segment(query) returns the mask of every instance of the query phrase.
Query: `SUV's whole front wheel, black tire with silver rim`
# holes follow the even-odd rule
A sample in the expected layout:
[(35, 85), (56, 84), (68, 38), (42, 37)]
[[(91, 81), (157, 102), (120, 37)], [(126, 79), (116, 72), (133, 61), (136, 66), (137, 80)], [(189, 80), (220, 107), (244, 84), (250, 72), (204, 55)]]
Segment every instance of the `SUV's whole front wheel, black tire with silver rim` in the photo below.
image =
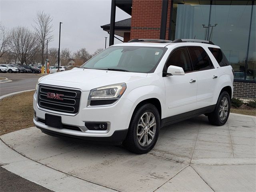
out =
[(124, 146), (133, 153), (144, 154), (156, 144), (160, 130), (160, 115), (153, 104), (140, 106), (130, 121)]

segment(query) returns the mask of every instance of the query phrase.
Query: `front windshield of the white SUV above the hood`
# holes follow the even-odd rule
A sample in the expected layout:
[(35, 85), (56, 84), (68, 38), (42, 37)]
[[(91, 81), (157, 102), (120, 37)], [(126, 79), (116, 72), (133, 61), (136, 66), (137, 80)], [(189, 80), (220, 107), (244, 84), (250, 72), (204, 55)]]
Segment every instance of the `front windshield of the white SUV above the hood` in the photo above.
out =
[(152, 73), (167, 48), (113, 46), (109, 47), (81, 66), (81, 68)]

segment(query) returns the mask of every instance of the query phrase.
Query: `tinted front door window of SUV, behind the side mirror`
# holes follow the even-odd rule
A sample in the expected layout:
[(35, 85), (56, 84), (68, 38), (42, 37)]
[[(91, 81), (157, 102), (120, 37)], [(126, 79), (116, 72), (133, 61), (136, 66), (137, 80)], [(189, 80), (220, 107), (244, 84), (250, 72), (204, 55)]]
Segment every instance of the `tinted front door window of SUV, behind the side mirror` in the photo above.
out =
[(185, 73), (191, 71), (186, 48), (177, 48), (176, 50), (171, 52), (170, 57), (166, 62), (166, 70), (170, 65), (182, 67)]

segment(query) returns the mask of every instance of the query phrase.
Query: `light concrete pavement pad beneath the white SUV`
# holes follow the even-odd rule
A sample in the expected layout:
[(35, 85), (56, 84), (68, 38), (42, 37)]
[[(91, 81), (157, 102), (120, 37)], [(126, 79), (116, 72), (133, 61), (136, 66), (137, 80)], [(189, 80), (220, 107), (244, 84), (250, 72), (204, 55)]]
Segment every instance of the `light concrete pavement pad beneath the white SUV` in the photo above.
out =
[[(53, 191), (256, 191), (256, 118), (202, 115), (160, 130), (148, 154), (42, 134), (2, 135), (2, 167)], [(67, 186), (66, 186), (67, 185)]]

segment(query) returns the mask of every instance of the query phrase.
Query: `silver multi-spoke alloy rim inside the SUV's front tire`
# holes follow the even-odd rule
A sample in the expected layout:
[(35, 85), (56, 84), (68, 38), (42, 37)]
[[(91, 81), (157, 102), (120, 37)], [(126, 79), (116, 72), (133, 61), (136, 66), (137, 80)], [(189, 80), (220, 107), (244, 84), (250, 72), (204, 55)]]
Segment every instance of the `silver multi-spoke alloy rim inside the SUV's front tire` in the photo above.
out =
[(137, 139), (141, 146), (148, 146), (156, 134), (156, 118), (152, 112), (144, 113), (137, 126)]

